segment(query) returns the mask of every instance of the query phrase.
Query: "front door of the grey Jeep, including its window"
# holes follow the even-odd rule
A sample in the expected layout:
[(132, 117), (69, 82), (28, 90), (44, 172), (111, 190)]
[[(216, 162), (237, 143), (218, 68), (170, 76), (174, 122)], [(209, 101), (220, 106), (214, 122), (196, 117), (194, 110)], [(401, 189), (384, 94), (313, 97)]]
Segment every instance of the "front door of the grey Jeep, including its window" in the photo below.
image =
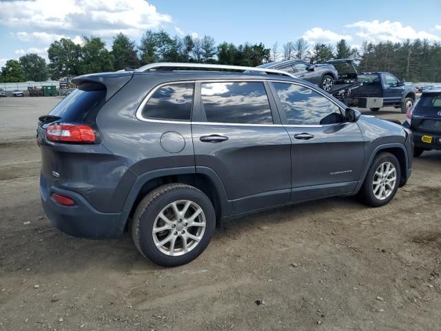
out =
[(360, 179), (364, 139), (357, 123), (319, 90), (274, 81), (283, 125), (291, 137), (291, 201), (353, 192)]

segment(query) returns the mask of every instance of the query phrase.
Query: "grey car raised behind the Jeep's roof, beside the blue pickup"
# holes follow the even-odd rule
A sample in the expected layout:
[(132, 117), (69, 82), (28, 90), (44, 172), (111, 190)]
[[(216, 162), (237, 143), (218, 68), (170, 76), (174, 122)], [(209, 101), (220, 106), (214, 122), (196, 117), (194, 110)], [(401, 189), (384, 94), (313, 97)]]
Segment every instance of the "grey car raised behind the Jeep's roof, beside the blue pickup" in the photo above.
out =
[(289, 72), (294, 76), (305, 79), (323, 90), (330, 92), (334, 81), (338, 79), (338, 72), (331, 64), (311, 64), (302, 60), (285, 60), (265, 63), (257, 68), (276, 69)]

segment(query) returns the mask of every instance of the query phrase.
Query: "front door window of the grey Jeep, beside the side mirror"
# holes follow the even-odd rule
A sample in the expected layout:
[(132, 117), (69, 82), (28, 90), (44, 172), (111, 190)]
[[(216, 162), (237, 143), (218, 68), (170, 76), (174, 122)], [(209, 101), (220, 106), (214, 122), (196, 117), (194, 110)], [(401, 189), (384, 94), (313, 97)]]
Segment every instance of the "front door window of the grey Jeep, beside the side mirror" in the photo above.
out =
[(273, 83), (287, 116), (294, 125), (342, 123), (340, 108), (314, 90), (291, 83)]

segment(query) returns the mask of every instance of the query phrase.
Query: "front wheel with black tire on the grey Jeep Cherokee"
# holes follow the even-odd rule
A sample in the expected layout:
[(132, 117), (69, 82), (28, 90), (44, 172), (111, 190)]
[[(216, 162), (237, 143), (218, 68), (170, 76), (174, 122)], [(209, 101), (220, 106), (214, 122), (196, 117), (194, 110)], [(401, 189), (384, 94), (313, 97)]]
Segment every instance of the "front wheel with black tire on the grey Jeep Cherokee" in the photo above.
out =
[[(391, 181), (389, 181), (389, 185), (386, 183), (388, 182), (388, 179), (383, 180), (381, 177), (378, 178), (380, 166), (383, 166), (382, 170), (385, 172), (385, 170), (387, 170), (387, 163), (389, 163), (389, 165), (393, 165), (395, 168), (396, 179), (393, 185), (391, 184)], [(392, 169), (389, 168), (389, 171), (391, 170)], [(387, 178), (389, 178), (389, 180), (393, 179), (393, 173)], [(375, 186), (373, 183), (374, 179), (379, 182)], [(358, 196), (360, 197), (362, 203), (370, 205), (371, 207), (381, 207), (382, 205), (386, 205), (395, 196), (398, 186), (400, 185), (400, 179), (401, 169), (398, 159), (391, 153), (382, 152), (373, 159), (372, 164), (366, 174), (365, 182), (363, 183), (360, 192), (358, 192)], [(393, 186), (392, 188), (391, 185)], [(378, 186), (380, 186), (380, 188), (378, 188)], [(382, 194), (382, 188), (384, 188), (384, 194)], [(377, 190), (376, 192), (375, 189)], [(380, 195), (384, 195), (384, 197), (378, 197)]]

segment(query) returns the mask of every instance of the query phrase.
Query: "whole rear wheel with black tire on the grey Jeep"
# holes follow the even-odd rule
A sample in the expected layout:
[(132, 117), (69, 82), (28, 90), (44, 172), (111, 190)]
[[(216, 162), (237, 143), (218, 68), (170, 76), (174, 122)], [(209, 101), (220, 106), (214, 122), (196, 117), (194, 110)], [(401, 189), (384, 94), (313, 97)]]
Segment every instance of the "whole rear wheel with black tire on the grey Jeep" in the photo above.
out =
[[(181, 214), (185, 207), (187, 212)], [(191, 216), (199, 209), (197, 221), (189, 225)], [(160, 217), (161, 213), (165, 219)], [(145, 258), (164, 267), (176, 267), (193, 261), (207, 248), (215, 227), (216, 213), (208, 197), (193, 186), (172, 183), (152, 190), (141, 200), (132, 220), (132, 238)], [(154, 233), (154, 228), (165, 230)], [(192, 238), (187, 237), (190, 235)]]

